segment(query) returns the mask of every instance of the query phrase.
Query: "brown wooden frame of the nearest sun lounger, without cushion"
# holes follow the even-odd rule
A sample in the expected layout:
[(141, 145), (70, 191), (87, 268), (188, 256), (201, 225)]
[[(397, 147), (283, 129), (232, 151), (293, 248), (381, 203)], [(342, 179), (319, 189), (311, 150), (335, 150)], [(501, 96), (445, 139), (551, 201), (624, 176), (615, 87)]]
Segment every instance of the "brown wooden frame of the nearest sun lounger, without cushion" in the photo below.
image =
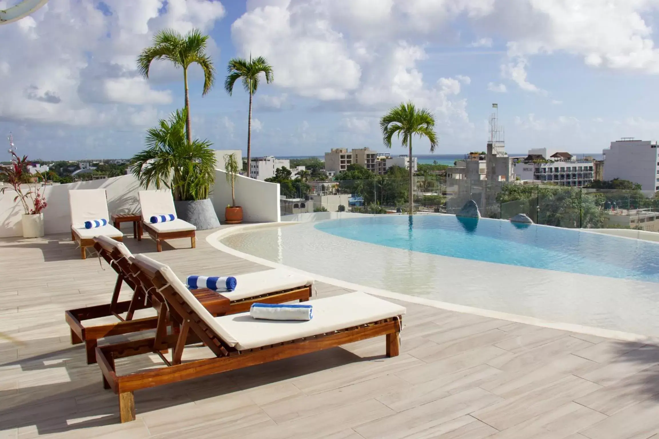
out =
[[(269, 361), (334, 348), (382, 335), (386, 336), (387, 357), (395, 357), (399, 353), (401, 317), (405, 309), (402, 309), (403, 311), (399, 315), (359, 324), (358, 326), (341, 328), (268, 346), (239, 350), (232, 347), (206, 324), (204, 318), (200, 317), (188, 304), (185, 297), (179, 294), (177, 288), (181, 287), (175, 288), (169, 284), (163, 272), (156, 265), (145, 263), (143, 259), (132, 262), (134, 267), (139, 270), (138, 277), (140, 281), (144, 282), (144, 287), (154, 286), (158, 290), (154, 293), (154, 296), (158, 296), (162, 304), (159, 311), (159, 317), (161, 318), (154, 338), (98, 346), (96, 348), (96, 359), (103, 375), (103, 388), (111, 388), (119, 396), (119, 415), (122, 423), (135, 419), (133, 393), (135, 390), (268, 363)], [(319, 299), (316, 303), (323, 300), (327, 299)], [(171, 319), (178, 325), (177, 330), (171, 334), (167, 333), (165, 318), (162, 317), (166, 309), (169, 310)], [(185, 346), (199, 341), (208, 346), (215, 357), (183, 363), (181, 357)], [(172, 349), (171, 362), (161, 355), (161, 352), (170, 348)], [(148, 369), (123, 376), (117, 374), (115, 360), (154, 352), (161, 355), (166, 367)]]

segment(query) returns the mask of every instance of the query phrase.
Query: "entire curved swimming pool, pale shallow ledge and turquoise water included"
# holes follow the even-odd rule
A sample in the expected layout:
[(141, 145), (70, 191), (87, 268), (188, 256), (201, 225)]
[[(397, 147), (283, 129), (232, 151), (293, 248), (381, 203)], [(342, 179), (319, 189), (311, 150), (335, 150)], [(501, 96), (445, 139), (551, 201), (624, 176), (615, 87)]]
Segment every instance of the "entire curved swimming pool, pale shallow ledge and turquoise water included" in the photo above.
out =
[(407, 296), (659, 336), (659, 244), (452, 215), (244, 230), (221, 244)]

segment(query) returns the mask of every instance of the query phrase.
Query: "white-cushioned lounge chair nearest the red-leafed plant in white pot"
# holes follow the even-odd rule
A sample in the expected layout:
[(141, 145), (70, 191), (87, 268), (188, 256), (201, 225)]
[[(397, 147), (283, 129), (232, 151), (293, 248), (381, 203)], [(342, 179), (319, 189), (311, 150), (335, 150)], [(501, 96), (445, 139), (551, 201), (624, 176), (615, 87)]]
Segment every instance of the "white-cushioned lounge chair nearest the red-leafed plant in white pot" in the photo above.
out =
[[(94, 246), (94, 237), (109, 236), (115, 240), (123, 240), (123, 233), (110, 225), (110, 215), (107, 211), (107, 194), (105, 189), (79, 189), (69, 191), (69, 206), (71, 207), (71, 240), (80, 245), (82, 259), (87, 259), (86, 248)], [(85, 221), (107, 220), (105, 226), (85, 228)]]

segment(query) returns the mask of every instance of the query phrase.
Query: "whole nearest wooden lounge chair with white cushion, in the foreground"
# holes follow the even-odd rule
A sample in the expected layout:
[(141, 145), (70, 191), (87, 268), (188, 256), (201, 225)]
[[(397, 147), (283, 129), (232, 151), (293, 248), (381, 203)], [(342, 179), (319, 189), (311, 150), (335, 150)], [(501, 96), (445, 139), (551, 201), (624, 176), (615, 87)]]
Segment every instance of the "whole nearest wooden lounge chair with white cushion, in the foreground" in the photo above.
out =
[[(154, 296), (169, 309), (179, 330), (168, 334), (158, 326), (156, 336), (119, 344), (98, 346), (96, 359), (103, 374), (103, 387), (119, 396), (121, 422), (135, 419), (135, 390), (160, 386), (199, 376), (241, 369), (357, 342), (386, 336), (386, 353), (399, 353), (401, 317), (405, 308), (362, 292), (316, 299), (310, 321), (257, 321), (249, 313), (214, 317), (197, 301), (167, 265), (137, 255), (133, 261), (140, 280), (149, 278)], [(165, 306), (161, 308), (165, 309)], [(163, 319), (164, 320), (164, 319)], [(200, 340), (212, 358), (181, 361), (185, 346)], [(119, 375), (115, 360), (142, 353), (173, 349), (166, 367)]]

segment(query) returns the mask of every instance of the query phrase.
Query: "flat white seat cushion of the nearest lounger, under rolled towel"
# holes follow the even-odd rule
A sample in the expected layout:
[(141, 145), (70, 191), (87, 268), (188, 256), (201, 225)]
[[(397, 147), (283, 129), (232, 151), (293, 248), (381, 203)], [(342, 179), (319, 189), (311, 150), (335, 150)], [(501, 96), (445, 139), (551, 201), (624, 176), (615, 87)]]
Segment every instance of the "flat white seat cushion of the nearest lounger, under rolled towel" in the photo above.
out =
[(362, 292), (316, 299), (308, 304), (314, 307), (314, 317), (310, 321), (256, 320), (250, 317), (249, 313), (215, 317), (215, 321), (223, 332), (229, 334), (231, 340), (237, 341), (233, 346), (243, 350), (405, 314), (405, 307)]

